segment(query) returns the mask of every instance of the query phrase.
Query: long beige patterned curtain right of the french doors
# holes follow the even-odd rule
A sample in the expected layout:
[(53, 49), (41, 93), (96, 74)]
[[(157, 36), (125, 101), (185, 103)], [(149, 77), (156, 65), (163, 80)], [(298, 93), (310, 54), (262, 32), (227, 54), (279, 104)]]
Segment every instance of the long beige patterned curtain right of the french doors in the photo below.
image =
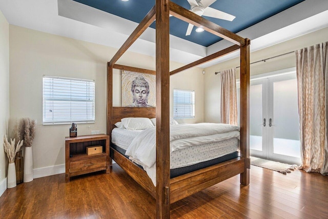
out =
[(296, 50), (302, 163), (306, 172), (327, 173), (327, 43)]

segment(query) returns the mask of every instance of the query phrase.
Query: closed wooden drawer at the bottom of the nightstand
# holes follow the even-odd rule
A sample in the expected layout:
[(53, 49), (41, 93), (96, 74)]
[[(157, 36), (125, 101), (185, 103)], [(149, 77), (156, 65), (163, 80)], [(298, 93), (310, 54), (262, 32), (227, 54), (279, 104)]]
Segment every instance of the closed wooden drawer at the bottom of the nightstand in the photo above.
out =
[(70, 162), (70, 173), (101, 167), (106, 169), (106, 156)]

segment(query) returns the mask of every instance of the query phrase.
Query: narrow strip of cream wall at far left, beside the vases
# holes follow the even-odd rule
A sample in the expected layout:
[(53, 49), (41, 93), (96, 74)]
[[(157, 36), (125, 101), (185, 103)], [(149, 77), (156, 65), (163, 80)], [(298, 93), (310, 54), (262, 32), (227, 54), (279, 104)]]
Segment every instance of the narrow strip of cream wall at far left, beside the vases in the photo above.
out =
[(7, 188), (4, 135), (9, 121), (9, 24), (0, 11), (0, 196)]

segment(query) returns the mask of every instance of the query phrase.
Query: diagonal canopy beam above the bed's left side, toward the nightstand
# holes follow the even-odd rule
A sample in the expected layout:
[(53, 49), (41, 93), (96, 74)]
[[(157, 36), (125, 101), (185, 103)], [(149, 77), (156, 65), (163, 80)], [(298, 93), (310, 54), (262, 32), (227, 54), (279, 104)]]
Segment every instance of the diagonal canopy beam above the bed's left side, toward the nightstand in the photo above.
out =
[(139, 36), (154, 22), (155, 20), (155, 6), (148, 12), (146, 17), (142, 19), (137, 28), (132, 32), (127, 41), (119, 48), (114, 57), (109, 62), (109, 66), (117, 62), (117, 60), (129, 49), (129, 47), (139, 38)]

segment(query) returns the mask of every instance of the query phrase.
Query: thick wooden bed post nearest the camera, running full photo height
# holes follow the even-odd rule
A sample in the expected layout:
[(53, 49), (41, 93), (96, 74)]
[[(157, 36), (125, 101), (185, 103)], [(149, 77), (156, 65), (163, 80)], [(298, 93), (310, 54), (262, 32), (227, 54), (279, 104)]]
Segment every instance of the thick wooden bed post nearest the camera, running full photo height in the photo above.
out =
[(170, 9), (156, 0), (156, 217), (170, 218)]

